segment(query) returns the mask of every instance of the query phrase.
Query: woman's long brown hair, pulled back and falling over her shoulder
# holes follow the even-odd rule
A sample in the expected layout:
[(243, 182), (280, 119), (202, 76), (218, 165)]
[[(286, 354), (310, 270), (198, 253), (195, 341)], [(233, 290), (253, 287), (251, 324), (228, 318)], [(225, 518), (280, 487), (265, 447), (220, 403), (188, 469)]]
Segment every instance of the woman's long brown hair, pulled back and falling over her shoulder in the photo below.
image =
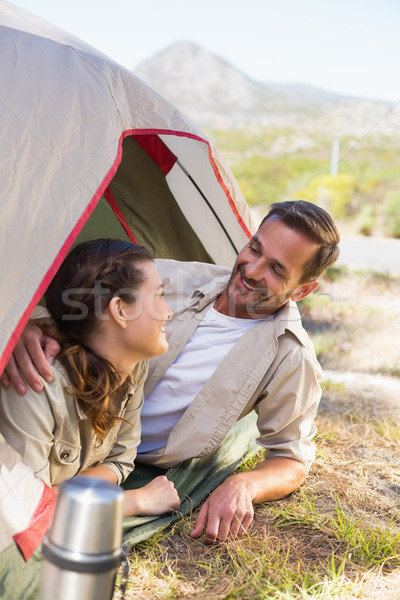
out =
[(54, 324), (43, 329), (59, 342), (58, 359), (71, 382), (68, 391), (91, 420), (100, 442), (119, 420), (129, 382), (121, 387), (115, 368), (88, 347), (88, 339), (114, 296), (135, 302), (144, 280), (140, 263), (151, 260), (146, 248), (130, 242), (84, 242), (68, 254), (45, 294)]

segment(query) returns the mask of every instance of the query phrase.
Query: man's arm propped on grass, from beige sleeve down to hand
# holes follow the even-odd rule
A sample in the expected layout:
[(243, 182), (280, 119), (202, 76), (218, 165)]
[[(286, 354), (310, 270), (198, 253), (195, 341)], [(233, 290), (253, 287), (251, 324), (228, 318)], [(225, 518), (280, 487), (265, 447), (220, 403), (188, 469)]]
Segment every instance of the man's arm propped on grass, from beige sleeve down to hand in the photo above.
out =
[(283, 498), (303, 483), (315, 453), (311, 440), (321, 388), (313, 352), (293, 348), (285, 350), (256, 406), (257, 441), (269, 456), (214, 490), (200, 510), (193, 537), (204, 529), (210, 543), (243, 535), (253, 520), (254, 504)]

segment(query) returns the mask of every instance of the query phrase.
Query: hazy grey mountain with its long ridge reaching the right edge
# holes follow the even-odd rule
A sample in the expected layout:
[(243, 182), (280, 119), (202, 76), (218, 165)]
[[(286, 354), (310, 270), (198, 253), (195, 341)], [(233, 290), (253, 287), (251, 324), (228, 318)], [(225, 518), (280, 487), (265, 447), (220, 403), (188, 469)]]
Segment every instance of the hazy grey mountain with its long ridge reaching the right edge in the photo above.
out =
[(251, 79), (197, 44), (179, 41), (140, 63), (134, 73), (202, 128), (251, 125), (300, 127), (305, 132), (388, 135), (400, 128), (400, 109), (305, 84)]

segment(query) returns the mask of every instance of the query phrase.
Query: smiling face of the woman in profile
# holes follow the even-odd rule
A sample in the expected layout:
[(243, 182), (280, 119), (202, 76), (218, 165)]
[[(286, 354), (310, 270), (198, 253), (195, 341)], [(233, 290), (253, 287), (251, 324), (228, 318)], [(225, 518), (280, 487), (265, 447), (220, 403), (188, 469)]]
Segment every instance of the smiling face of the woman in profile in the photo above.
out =
[(172, 310), (163, 296), (161, 277), (151, 261), (139, 265), (145, 279), (136, 290), (136, 302), (125, 304), (128, 327), (125, 342), (136, 360), (151, 358), (168, 350), (165, 322)]

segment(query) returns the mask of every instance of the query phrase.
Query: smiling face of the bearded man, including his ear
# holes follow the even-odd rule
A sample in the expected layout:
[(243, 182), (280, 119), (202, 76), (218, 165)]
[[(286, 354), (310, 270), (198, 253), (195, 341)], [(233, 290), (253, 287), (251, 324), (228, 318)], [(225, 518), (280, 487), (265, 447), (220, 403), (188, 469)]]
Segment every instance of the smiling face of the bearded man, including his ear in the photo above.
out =
[(238, 255), (226, 291), (216, 307), (251, 319), (275, 313), (289, 298), (300, 300), (318, 282), (301, 284), (304, 266), (319, 245), (282, 221), (268, 219)]

